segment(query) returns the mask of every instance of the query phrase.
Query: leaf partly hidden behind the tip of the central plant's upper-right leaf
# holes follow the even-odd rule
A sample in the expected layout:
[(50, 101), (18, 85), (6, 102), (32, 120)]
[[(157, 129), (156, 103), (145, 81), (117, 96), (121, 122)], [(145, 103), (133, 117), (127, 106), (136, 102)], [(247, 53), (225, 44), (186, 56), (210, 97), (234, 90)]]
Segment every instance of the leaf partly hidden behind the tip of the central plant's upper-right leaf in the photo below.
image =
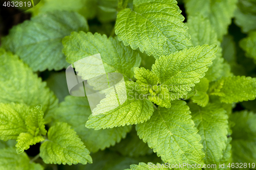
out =
[(220, 47), (220, 41), (218, 41), (217, 33), (214, 28), (211, 27), (210, 20), (202, 15), (191, 16), (187, 21), (187, 32), (191, 36), (191, 42), (194, 46), (209, 44), (218, 45), (218, 51), (216, 53), (216, 59), (212, 61), (212, 65), (209, 66), (208, 71), (205, 74), (205, 78), (209, 81), (216, 81), (221, 77), (230, 76), (230, 68), (224, 59), (221, 57), (222, 48)]

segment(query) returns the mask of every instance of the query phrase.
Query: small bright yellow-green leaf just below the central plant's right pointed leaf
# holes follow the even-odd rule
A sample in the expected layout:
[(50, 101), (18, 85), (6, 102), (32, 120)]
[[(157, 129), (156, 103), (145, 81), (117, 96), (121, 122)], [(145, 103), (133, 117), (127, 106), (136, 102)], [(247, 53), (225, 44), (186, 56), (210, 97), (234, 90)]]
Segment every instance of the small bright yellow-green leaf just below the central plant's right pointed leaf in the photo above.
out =
[(205, 78), (200, 79), (200, 82), (194, 88), (195, 95), (191, 97), (191, 100), (199, 106), (205, 107), (209, 102), (208, 88), (209, 81)]

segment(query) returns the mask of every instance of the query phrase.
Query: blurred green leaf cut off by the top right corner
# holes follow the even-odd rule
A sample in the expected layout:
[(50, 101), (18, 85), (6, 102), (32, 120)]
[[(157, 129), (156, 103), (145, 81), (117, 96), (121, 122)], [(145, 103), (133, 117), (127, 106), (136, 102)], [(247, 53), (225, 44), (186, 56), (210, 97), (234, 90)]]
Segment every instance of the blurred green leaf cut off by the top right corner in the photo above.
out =
[(234, 12), (234, 22), (247, 33), (256, 30), (256, 3), (254, 0), (240, 0)]

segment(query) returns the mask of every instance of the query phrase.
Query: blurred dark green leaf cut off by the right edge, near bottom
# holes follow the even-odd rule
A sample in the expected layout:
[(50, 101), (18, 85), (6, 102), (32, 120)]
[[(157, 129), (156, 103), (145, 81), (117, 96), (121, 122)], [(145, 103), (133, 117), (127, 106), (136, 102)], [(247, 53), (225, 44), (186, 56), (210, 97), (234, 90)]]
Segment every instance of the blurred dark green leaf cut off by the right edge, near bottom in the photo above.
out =
[[(256, 161), (256, 115), (246, 110), (231, 114), (233, 162), (255, 163)], [(243, 169), (249, 169), (243, 168)], [(255, 168), (253, 168), (255, 169)]]

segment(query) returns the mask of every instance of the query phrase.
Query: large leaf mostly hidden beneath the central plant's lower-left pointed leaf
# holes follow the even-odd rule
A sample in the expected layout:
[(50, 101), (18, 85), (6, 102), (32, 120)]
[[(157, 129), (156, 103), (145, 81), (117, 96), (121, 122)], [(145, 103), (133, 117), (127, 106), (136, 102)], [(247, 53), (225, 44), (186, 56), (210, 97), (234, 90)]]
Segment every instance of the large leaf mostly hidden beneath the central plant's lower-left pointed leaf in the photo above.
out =
[(95, 131), (85, 127), (91, 109), (87, 98), (78, 98), (75, 96), (67, 96), (65, 102), (55, 111), (55, 122), (66, 122), (77, 132), (82, 142), (91, 152), (104, 150), (116, 142), (120, 142), (121, 138), (131, 130), (131, 126), (117, 127), (112, 129), (101, 129)]

